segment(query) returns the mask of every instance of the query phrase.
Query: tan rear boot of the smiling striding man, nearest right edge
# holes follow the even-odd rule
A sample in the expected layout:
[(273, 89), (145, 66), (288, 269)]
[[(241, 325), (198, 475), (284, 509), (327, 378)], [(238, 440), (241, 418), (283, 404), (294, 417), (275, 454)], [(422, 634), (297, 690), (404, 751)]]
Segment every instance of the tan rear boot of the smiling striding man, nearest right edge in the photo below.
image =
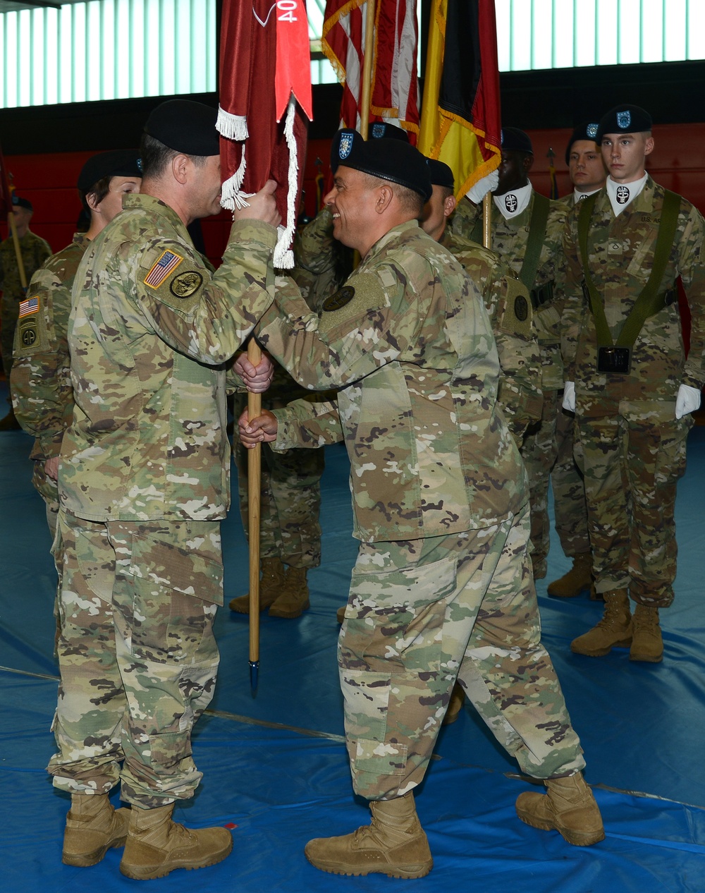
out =
[(517, 797), (517, 815), (522, 822), (543, 831), (557, 830), (575, 847), (589, 847), (604, 840), (600, 809), (582, 772), (544, 783), (545, 795), (525, 791)]

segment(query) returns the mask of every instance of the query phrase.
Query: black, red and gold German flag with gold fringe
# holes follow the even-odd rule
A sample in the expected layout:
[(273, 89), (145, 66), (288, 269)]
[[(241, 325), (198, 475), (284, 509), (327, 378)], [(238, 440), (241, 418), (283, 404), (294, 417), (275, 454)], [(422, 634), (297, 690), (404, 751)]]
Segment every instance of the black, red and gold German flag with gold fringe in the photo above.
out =
[(449, 165), (456, 196), (499, 167), (501, 121), (494, 0), (433, 0), (419, 149)]

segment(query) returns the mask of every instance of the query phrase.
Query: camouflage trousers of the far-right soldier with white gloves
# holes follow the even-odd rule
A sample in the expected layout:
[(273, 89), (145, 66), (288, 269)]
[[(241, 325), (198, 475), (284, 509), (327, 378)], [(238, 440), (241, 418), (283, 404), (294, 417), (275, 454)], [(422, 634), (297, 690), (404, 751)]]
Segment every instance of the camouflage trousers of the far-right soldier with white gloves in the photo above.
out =
[(613, 409), (576, 416), (595, 586), (628, 588), (635, 602), (668, 607), (676, 579), (676, 484), (693, 416), (676, 420), (674, 404), (661, 401), (622, 401)]

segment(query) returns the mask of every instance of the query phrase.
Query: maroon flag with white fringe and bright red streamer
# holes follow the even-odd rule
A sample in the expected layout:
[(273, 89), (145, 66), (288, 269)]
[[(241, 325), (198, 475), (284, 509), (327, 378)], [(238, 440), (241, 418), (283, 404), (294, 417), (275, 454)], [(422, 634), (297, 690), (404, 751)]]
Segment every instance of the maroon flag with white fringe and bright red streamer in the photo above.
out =
[[(225, 0), (220, 30), (223, 207), (240, 206), (267, 179), (278, 183), (274, 262), (291, 267), (307, 119), (311, 53), (303, 0)], [(282, 120), (283, 119), (283, 120)]]

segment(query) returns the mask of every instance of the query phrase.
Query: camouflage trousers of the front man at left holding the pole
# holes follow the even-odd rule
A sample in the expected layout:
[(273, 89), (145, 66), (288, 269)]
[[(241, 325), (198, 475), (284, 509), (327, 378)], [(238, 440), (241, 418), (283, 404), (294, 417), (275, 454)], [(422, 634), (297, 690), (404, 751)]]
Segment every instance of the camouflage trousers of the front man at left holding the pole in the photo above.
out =
[[(222, 604), (218, 522), (59, 513), (61, 682), (54, 786), (142, 806), (193, 797), (191, 730), (210, 703)], [(120, 768), (120, 764), (122, 764)]]

